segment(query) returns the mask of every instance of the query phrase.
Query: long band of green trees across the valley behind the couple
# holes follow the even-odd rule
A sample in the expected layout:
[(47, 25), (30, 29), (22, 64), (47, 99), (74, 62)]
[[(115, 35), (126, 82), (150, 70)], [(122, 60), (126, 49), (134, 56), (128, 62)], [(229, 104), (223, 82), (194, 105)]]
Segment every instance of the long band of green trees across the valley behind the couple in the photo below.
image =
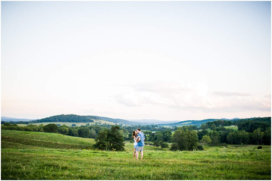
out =
[[(240, 120), (239, 120), (240, 121)], [(157, 125), (147, 125), (147, 126), (126, 126), (120, 124), (119, 126), (115, 124), (111, 126), (109, 124), (103, 123), (100, 125), (89, 125), (85, 126), (67, 126), (58, 124), (47, 124), (43, 125), (28, 125), (28, 126), (18, 126), (16, 123), (10, 124), (8, 122), (1, 126), (2, 130), (20, 130), (20, 131), (35, 131), (35, 132), (48, 132), (48, 133), (59, 133), (68, 136), (76, 136), (82, 138), (93, 138), (96, 140), (94, 145), (97, 149), (105, 150), (119, 150), (121, 148), (113, 146), (116, 145), (115, 142), (111, 141), (113, 135), (111, 130), (115, 133), (115, 136), (121, 135), (118, 140), (131, 140), (132, 132), (137, 128), (143, 130), (145, 134), (146, 141), (153, 142), (155, 146), (161, 148), (168, 148), (167, 143), (172, 143), (170, 150), (202, 150), (202, 146), (199, 142), (203, 142), (209, 146), (226, 145), (226, 144), (253, 144), (253, 145), (271, 145), (271, 117), (270, 124), (269, 118), (260, 119), (254, 118), (249, 120), (244, 120), (244, 122), (237, 122), (238, 130), (226, 129), (224, 126), (229, 126), (232, 124), (229, 120), (216, 120), (212, 122), (207, 122), (205, 125), (197, 127), (196, 125), (189, 126), (174, 126), (172, 128), (157, 126)], [(200, 130), (199, 128), (208, 128)], [(210, 127), (209, 127), (210, 126)], [(199, 131), (196, 131), (199, 130)], [(172, 133), (173, 132), (173, 133)], [(108, 142), (108, 144), (106, 144)], [(99, 144), (98, 144), (99, 143)], [(101, 144), (100, 144), (101, 143)], [(120, 144), (119, 144), (120, 145)]]

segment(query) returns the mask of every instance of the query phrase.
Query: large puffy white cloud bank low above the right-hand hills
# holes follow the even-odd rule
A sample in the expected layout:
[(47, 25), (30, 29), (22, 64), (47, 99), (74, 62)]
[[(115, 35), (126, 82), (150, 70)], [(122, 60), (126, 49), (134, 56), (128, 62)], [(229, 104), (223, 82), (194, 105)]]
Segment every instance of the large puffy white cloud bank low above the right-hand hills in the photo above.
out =
[[(261, 100), (241, 92), (209, 94), (206, 83), (182, 85), (177, 83), (142, 83), (130, 85), (134, 89), (115, 95), (118, 103), (126, 106), (153, 105), (176, 109), (206, 111), (270, 111), (271, 100)], [(249, 97), (250, 96), (250, 97)]]

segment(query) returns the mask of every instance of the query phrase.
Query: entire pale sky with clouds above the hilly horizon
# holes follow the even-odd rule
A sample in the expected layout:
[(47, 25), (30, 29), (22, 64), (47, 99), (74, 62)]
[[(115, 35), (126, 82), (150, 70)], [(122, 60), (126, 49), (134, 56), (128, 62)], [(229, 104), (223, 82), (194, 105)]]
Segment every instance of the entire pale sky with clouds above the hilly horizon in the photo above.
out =
[(1, 2), (1, 116), (271, 116), (271, 2)]

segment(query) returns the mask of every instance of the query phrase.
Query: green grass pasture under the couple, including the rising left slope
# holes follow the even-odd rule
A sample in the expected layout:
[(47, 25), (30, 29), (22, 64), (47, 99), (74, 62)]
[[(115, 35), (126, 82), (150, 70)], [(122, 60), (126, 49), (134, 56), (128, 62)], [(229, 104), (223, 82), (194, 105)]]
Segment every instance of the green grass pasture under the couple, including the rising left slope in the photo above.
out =
[[(1, 130), (2, 180), (271, 180), (271, 146), (172, 152), (146, 145), (143, 160), (133, 160), (133, 143), (126, 143), (123, 152), (97, 151), (69, 148), (80, 141), (93, 144), (93, 139), (28, 133)], [(63, 148), (52, 147), (47, 139)]]

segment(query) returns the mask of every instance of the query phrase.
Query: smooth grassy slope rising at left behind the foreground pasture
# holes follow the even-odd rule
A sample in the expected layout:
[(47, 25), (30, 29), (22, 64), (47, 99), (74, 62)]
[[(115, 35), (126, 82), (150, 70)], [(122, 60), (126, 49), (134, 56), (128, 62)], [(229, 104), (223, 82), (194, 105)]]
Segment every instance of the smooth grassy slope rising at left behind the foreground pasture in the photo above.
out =
[(94, 143), (94, 139), (64, 136), (57, 133), (1, 130), (1, 149), (18, 146), (20, 148), (88, 149)]

